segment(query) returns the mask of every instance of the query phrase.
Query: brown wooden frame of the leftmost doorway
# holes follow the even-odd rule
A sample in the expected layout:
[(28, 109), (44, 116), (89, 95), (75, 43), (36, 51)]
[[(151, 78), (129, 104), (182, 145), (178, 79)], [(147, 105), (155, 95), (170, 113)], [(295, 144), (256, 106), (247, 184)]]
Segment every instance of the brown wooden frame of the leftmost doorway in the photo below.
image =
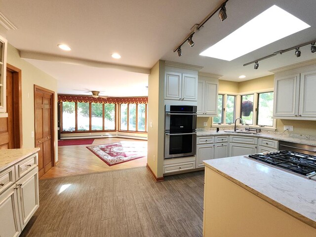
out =
[(22, 148), (22, 71), (8, 63), (6, 64), (6, 70), (13, 73), (13, 146), (14, 148)]

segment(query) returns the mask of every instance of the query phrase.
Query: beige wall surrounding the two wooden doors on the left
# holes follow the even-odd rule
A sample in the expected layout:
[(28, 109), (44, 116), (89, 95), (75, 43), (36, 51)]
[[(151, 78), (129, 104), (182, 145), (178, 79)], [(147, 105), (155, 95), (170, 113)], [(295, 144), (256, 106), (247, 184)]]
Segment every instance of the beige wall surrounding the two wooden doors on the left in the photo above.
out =
[(55, 160), (57, 150), (57, 80), (20, 58), (18, 49), (8, 44), (7, 63), (22, 70), (22, 131), (23, 148), (33, 148), (35, 138), (31, 137), (34, 128), (34, 84), (55, 91)]

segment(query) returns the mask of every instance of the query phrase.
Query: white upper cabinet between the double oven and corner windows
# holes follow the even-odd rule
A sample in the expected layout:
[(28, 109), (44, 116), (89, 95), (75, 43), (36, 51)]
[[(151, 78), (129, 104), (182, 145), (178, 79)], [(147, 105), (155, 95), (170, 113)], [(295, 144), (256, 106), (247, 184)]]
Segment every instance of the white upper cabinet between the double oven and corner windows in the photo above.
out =
[(197, 85), (197, 115), (217, 116), (219, 75), (199, 73)]

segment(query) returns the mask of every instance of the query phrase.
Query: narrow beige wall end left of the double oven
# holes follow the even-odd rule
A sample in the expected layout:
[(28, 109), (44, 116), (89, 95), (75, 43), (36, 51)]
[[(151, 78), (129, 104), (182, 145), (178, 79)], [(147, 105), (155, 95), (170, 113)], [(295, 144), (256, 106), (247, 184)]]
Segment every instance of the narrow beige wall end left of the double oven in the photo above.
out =
[[(162, 177), (164, 157), (164, 61), (159, 60), (148, 78), (147, 164)], [(150, 124), (152, 123), (152, 127)]]

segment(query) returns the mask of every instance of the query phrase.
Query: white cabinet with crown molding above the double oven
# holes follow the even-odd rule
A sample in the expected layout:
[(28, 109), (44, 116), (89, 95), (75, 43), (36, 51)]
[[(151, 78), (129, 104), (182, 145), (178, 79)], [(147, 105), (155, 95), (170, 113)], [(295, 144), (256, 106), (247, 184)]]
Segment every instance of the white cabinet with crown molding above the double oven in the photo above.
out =
[[(164, 99), (197, 103), (197, 71), (201, 67), (165, 62)], [(180, 102), (171, 102), (180, 103)]]

